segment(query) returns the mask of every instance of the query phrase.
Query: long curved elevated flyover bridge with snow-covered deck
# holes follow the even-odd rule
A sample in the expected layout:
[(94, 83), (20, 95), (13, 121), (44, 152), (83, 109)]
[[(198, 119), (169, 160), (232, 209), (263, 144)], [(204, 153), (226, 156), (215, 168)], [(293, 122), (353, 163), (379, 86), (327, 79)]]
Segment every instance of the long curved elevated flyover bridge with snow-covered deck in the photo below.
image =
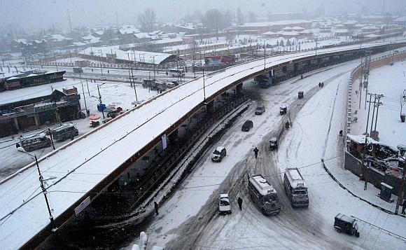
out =
[[(35, 162), (0, 183), (0, 242), (6, 249), (33, 248), (118, 179), (154, 148), (163, 135), (226, 90), (241, 90), (242, 82), (269, 71), (298, 75), (314, 65), (343, 62), (363, 55), (406, 46), (406, 41), (366, 43), (267, 57), (207, 74), (163, 92), (92, 132), (38, 159), (54, 223), (50, 222)], [(302, 69), (301, 69), (302, 68)], [(276, 74), (272, 74), (277, 80)], [(52, 173), (52, 174), (51, 174)], [(45, 179), (47, 179), (45, 177)], [(53, 225), (52, 225), (53, 224)]]

